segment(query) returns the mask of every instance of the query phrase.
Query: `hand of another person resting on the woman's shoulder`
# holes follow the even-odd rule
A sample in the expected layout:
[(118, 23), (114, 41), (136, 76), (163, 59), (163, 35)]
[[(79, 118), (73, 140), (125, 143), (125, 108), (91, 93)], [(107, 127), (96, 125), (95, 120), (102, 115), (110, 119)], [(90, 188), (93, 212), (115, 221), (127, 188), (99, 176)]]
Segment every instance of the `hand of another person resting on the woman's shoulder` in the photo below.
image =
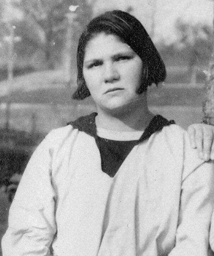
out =
[(198, 156), (206, 161), (214, 160), (214, 126), (192, 124), (188, 127), (192, 148), (197, 148)]

